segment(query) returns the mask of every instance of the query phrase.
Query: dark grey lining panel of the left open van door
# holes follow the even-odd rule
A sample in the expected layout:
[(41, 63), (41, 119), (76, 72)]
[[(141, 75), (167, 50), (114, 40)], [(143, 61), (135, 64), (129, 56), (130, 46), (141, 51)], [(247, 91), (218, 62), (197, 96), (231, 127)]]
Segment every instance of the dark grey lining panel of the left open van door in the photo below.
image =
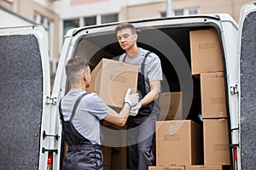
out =
[(38, 39), (0, 36), (0, 168), (38, 169), (43, 77)]

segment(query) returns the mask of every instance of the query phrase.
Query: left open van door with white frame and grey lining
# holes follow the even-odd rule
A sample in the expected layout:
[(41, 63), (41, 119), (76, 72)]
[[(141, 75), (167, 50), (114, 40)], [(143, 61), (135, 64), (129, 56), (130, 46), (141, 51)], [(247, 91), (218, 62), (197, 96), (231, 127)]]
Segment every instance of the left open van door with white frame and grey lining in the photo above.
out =
[(47, 168), (50, 81), (45, 37), (41, 26), (0, 28), (1, 169)]

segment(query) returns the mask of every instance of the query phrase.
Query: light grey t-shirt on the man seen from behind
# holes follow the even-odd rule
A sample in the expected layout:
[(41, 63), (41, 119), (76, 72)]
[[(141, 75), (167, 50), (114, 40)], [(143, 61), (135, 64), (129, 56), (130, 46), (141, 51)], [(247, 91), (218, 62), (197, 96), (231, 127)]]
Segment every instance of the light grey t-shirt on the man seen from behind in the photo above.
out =
[[(64, 121), (70, 119), (73, 105), (84, 91), (79, 88), (72, 88), (61, 100), (61, 110)], [(98, 94), (87, 94), (81, 99), (75, 116), (73, 116), (73, 126), (92, 144), (102, 144), (101, 123), (111, 109), (106, 105)]]

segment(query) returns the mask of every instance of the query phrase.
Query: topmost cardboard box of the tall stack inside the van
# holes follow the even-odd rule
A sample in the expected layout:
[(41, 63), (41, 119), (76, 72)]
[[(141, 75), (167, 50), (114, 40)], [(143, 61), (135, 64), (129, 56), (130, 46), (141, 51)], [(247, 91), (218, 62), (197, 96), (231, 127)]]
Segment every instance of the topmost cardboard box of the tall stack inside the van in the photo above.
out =
[(192, 75), (223, 71), (218, 32), (215, 29), (189, 31)]

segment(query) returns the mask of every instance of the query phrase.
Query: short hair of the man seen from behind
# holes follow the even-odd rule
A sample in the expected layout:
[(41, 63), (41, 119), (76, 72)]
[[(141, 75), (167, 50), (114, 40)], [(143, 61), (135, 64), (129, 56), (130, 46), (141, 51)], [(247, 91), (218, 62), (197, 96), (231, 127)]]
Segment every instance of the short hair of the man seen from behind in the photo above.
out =
[(79, 82), (84, 71), (87, 71), (87, 65), (89, 65), (89, 62), (85, 58), (76, 56), (69, 59), (65, 66), (69, 82)]

